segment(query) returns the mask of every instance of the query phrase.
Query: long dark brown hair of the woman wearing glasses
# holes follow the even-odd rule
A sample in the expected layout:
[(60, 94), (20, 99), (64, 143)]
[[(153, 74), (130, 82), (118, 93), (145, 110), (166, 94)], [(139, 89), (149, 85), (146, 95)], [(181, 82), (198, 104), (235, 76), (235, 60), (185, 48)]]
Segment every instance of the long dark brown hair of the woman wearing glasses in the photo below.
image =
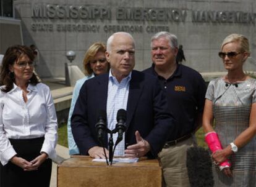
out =
[[(0, 86), (4, 86), (1, 88), (3, 92), (9, 92), (14, 87), (14, 73), (9, 70), (10, 65), (14, 65), (14, 63), (19, 60), (22, 55), (27, 55), (30, 60), (34, 60), (35, 55), (33, 51), (27, 46), (15, 45), (11, 46), (6, 50), (4, 54), (4, 58), (2, 58), (2, 68), (0, 73)], [(38, 79), (33, 73), (32, 78), (30, 78), (30, 84), (36, 85), (38, 84)]]

